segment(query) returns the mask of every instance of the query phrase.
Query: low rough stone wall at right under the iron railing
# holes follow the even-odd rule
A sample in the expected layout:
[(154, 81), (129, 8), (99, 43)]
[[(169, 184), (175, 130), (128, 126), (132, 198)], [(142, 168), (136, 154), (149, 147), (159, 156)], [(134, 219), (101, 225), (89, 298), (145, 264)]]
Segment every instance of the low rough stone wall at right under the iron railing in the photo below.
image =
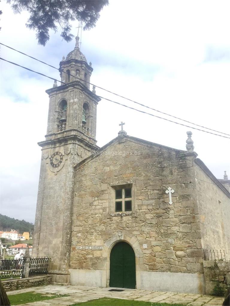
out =
[(230, 263), (222, 260), (204, 260), (205, 294), (219, 295), (230, 285)]

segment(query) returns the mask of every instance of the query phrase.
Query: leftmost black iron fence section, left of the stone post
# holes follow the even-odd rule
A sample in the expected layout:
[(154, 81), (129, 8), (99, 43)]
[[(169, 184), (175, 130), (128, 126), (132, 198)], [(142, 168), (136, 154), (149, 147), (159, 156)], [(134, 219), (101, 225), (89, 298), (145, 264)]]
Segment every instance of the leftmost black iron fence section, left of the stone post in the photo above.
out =
[(24, 271), (24, 260), (1, 260), (0, 270), (0, 278), (22, 277)]

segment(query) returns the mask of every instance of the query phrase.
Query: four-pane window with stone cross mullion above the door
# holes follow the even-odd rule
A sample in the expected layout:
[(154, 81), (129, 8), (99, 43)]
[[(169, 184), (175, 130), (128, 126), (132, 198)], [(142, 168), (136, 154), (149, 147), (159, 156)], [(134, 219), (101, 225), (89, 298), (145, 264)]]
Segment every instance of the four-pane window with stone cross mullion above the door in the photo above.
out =
[(115, 211), (132, 211), (132, 189), (117, 189), (115, 193)]

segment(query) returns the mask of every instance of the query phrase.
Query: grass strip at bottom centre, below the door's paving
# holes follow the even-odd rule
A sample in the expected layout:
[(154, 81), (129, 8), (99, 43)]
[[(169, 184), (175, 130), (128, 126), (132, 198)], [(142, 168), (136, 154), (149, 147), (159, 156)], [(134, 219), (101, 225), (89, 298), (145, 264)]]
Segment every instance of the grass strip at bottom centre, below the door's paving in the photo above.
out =
[[(91, 300), (88, 302), (76, 303), (71, 306), (175, 306), (175, 304), (167, 303), (152, 303), (135, 300), (123, 300), (123, 299), (111, 299), (109, 297), (103, 297), (101, 299)], [(178, 304), (177, 304), (178, 305)], [(183, 304), (180, 304), (183, 305)]]

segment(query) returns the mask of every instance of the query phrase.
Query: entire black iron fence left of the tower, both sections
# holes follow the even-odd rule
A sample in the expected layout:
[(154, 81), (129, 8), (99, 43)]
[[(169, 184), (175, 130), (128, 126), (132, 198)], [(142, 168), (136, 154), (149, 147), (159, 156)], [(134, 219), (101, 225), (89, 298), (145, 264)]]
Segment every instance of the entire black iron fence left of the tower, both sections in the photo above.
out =
[(28, 267), (29, 267), (29, 275), (47, 274), (49, 268), (49, 260), (50, 259), (48, 257), (30, 258), (28, 262), (26, 262), (25, 259), (1, 260), (0, 278), (2, 279), (2, 278), (28, 277)]

